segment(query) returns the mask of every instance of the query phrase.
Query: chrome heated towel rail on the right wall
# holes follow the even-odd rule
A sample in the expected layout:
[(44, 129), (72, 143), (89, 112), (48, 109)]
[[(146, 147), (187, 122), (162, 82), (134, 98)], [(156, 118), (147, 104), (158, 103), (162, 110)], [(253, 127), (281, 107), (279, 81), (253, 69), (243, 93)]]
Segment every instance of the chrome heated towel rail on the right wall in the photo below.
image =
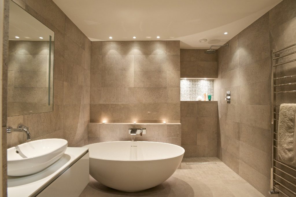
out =
[[(296, 167), (287, 165), (277, 159), (277, 127), (279, 121), (279, 106), (283, 103), (283, 100), (278, 99), (277, 97), (283, 93), (292, 94), (289, 95), (290, 100), (292, 97), (295, 97), (294, 102), (296, 103), (296, 59), (285, 59), (283, 57), (289, 58), (288, 56), (296, 54), (296, 43), (284, 47), (279, 50), (271, 50), (271, 65), (272, 65), (272, 73), (271, 73), (271, 123), (272, 123), (272, 164), (271, 164), (271, 190), (270, 194), (282, 194), (283, 196), (296, 196)], [(289, 52), (285, 52), (288, 49), (292, 49)], [(282, 60), (282, 61), (281, 61)], [(280, 62), (279, 62), (280, 61)], [(289, 68), (293, 68), (295, 73), (288, 76), (277, 76), (280, 75), (277, 72), (280, 66), (287, 66), (285, 64), (289, 64)], [(291, 67), (292, 66), (292, 67)], [(283, 68), (280, 68), (283, 69)], [(287, 72), (284, 72), (287, 73)], [(281, 83), (281, 80), (289, 80), (289, 82)], [(289, 89), (280, 89), (279, 88), (287, 88)]]

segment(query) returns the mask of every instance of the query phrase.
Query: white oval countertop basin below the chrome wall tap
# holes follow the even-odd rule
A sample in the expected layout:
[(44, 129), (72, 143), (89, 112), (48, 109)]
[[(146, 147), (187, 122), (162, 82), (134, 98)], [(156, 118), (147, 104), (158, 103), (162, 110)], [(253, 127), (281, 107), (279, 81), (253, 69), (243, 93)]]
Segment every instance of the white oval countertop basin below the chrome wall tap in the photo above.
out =
[(68, 146), (65, 139), (41, 139), (7, 149), (7, 174), (35, 174), (63, 156)]

